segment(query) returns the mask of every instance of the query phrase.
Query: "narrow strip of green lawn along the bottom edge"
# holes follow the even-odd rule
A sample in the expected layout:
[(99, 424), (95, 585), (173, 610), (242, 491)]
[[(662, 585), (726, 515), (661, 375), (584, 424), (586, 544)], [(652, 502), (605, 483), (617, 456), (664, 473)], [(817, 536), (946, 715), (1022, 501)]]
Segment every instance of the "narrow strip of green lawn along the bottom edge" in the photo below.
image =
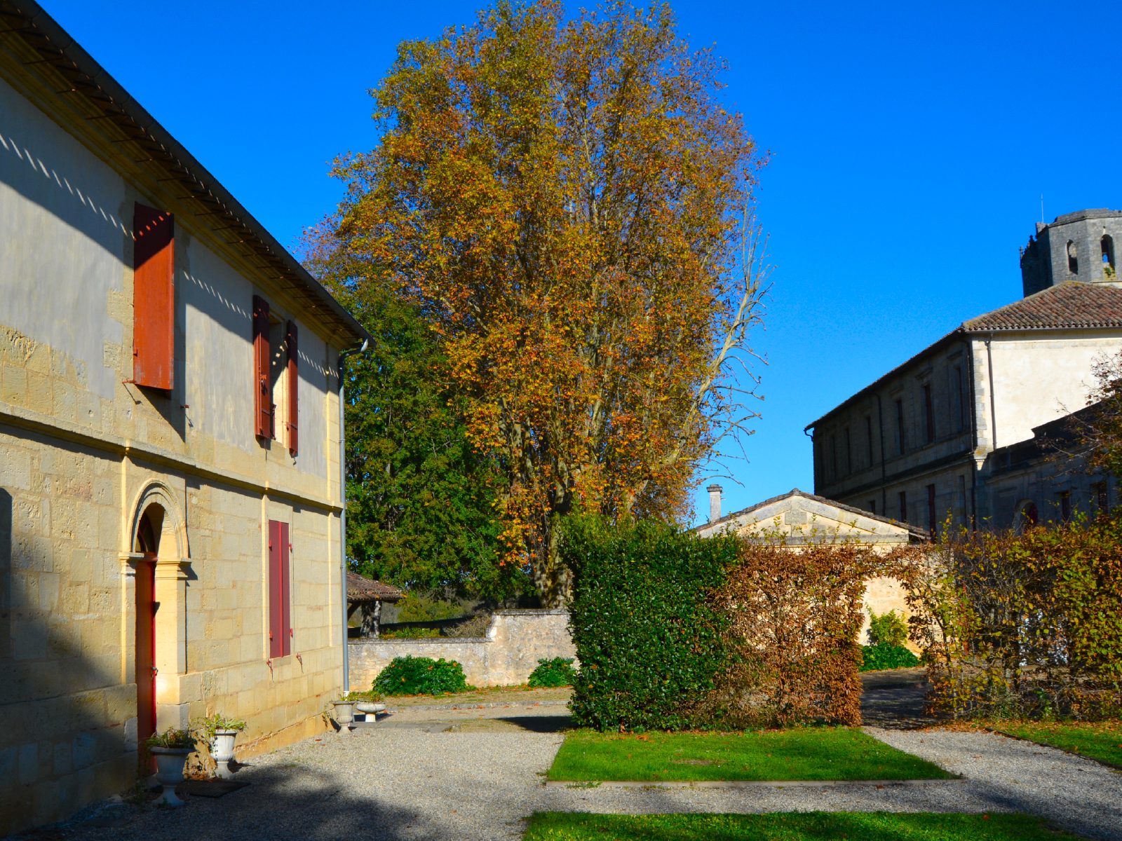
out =
[(591, 815), (539, 812), (523, 841), (1065, 841), (1029, 815), (779, 812), (762, 815)]

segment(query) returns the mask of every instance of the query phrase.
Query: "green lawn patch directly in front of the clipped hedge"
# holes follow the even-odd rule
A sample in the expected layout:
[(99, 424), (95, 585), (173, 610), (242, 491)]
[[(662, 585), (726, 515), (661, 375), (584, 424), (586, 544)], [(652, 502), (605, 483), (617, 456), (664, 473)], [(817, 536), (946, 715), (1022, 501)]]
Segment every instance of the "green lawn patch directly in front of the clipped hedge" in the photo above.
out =
[(850, 728), (744, 733), (570, 732), (557, 780), (946, 779), (953, 775)]

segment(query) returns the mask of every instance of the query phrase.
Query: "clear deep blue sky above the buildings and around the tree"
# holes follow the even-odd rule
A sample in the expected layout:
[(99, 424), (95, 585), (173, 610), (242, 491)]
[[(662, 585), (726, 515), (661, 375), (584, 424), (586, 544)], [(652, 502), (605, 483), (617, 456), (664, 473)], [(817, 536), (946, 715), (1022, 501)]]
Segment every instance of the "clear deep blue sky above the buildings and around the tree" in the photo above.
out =
[[(366, 91), (397, 43), (479, 6), (40, 1), (286, 244), (338, 201), (329, 161), (374, 146)], [(808, 423), (1020, 297), (1041, 195), (1048, 221), (1122, 209), (1122, 3), (674, 9), (728, 59), (725, 98), (772, 153), (765, 400), (741, 484), (723, 480), (727, 512), (810, 490)]]

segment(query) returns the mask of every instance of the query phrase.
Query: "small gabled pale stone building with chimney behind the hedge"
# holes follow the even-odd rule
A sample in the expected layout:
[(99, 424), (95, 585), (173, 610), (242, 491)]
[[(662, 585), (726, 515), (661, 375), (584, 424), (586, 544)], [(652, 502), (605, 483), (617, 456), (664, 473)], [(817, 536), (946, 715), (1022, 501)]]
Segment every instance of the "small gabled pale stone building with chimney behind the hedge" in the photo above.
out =
[[(930, 540), (930, 535), (921, 528), (798, 488), (725, 516), (720, 512), (721, 487), (710, 484), (706, 490), (709, 491), (709, 521), (693, 529), (701, 537), (733, 532), (748, 540), (782, 539), (795, 552), (808, 544), (834, 542), (865, 544), (883, 552)], [(895, 579), (877, 576), (865, 583), (862, 640), (868, 630), (868, 611), (895, 610), (904, 617), (910, 614), (904, 597), (904, 588)]]

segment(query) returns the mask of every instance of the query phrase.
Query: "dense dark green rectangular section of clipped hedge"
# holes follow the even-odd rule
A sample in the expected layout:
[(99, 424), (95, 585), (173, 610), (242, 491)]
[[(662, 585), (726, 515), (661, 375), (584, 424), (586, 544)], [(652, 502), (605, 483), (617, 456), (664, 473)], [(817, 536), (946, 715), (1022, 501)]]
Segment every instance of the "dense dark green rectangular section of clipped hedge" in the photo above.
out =
[(703, 539), (662, 524), (617, 528), (565, 518), (573, 571), (570, 622), (580, 671), (570, 703), (580, 727), (681, 730), (726, 666), (727, 619), (710, 594), (736, 561), (733, 537)]

